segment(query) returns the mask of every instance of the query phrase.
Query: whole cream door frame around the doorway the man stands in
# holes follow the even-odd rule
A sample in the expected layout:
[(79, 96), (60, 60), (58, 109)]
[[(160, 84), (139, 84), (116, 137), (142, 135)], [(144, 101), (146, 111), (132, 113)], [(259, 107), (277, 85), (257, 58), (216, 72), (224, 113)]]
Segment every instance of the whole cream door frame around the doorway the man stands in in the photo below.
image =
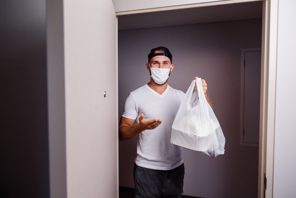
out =
[[(197, 4), (168, 6), (160, 8), (129, 10), (116, 13), (116, 31), (118, 31), (119, 15), (158, 12), (174, 9), (206, 7), (223, 4), (243, 3), (260, 0), (225, 0)], [(274, 121), (276, 96), (276, 55), (277, 55), (277, 23), (278, 0), (263, 1), (262, 12), (262, 55), (261, 55), (261, 87), (260, 87), (260, 131), (259, 131), (259, 166), (258, 166), (258, 198), (272, 198), (274, 170)], [(118, 37), (116, 33), (116, 89), (118, 119)], [(118, 126), (118, 120), (117, 120)], [(118, 127), (117, 127), (118, 129)], [(117, 130), (118, 136), (118, 130)], [(266, 190), (264, 175), (266, 174)], [(118, 183), (118, 143), (117, 143), (117, 183)], [(119, 195), (119, 193), (117, 193)]]

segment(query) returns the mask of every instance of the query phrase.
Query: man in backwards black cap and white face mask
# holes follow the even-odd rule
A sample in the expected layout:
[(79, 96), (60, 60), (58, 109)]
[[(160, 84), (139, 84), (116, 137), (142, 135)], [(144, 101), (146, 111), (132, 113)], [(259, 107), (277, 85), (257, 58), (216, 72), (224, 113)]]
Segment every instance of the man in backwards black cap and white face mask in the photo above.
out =
[[(167, 84), (174, 65), (172, 55), (166, 47), (152, 49), (146, 67), (150, 72), (150, 82), (128, 95), (120, 119), (119, 140), (138, 136), (133, 171), (136, 198), (181, 198), (184, 179), (181, 157), (183, 148), (171, 144), (170, 136), (173, 121), (185, 94)], [(205, 80), (202, 80), (202, 86), (211, 105)], [(197, 92), (196, 84), (195, 90)], [(136, 125), (133, 125), (135, 120)]]

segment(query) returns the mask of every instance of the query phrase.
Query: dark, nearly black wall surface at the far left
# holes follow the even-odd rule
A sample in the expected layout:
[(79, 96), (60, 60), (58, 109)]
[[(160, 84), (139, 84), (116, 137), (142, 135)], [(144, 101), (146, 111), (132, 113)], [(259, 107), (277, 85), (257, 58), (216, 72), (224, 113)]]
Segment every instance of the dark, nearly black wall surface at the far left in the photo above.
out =
[(46, 1), (0, 1), (0, 197), (49, 197)]

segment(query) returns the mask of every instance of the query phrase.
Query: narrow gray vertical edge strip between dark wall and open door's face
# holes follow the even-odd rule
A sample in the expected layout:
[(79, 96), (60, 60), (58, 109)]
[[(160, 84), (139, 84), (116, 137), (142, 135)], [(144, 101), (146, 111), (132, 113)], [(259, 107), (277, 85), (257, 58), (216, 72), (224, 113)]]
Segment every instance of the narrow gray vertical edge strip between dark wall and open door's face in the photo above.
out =
[(46, 1), (49, 196), (67, 197), (64, 10)]

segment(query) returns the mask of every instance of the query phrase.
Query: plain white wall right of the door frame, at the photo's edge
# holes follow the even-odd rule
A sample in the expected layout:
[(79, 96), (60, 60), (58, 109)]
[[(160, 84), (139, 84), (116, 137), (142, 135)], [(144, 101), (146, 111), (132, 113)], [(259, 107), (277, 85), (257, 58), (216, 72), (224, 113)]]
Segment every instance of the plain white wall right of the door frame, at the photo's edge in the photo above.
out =
[(279, 0), (274, 136), (274, 198), (292, 198), (296, 195), (295, 7), (296, 1), (294, 0)]

